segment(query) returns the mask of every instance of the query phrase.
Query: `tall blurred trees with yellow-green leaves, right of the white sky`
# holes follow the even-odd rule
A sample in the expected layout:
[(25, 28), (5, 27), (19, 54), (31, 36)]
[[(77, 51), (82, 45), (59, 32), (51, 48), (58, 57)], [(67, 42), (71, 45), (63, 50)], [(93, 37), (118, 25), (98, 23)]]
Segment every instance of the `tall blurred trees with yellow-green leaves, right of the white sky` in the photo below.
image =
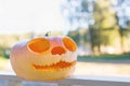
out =
[[(66, 4), (62, 6), (63, 15), (72, 26), (77, 26), (77, 29), (68, 32), (68, 35), (77, 42), (79, 47), (91, 47), (93, 55), (130, 52), (130, 19), (123, 12), (128, 2), (125, 0), (115, 2), (66, 0)], [(64, 14), (64, 11), (68, 14)], [(81, 31), (82, 27), (86, 30)]]

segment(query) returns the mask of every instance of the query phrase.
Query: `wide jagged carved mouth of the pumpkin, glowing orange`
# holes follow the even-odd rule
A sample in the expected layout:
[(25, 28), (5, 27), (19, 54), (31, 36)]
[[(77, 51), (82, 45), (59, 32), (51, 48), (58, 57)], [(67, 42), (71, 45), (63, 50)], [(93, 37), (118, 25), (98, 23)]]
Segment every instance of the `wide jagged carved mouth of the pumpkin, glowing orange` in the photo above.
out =
[(35, 67), (35, 69), (37, 70), (60, 70), (64, 68), (70, 68), (75, 64), (76, 64), (76, 61), (72, 61), (72, 62), (60, 61), (51, 66), (39, 66), (39, 64), (34, 63), (32, 67)]

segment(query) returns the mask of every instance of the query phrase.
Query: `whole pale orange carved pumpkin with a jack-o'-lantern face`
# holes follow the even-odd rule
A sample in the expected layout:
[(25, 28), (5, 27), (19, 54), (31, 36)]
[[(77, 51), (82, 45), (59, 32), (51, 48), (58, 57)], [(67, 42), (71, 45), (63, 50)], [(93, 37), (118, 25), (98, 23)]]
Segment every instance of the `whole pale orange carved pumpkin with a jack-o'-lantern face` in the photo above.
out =
[(77, 45), (68, 37), (35, 38), (11, 48), (11, 64), (18, 77), (58, 80), (70, 76), (77, 61)]

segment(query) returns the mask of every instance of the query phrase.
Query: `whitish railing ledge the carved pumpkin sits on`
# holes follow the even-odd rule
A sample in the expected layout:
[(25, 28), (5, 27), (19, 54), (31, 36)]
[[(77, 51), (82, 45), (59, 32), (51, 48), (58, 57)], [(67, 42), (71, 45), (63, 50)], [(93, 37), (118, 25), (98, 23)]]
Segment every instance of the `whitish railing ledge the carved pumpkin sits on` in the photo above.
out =
[(130, 86), (130, 77), (74, 75), (58, 81), (34, 82), (0, 72), (0, 86)]

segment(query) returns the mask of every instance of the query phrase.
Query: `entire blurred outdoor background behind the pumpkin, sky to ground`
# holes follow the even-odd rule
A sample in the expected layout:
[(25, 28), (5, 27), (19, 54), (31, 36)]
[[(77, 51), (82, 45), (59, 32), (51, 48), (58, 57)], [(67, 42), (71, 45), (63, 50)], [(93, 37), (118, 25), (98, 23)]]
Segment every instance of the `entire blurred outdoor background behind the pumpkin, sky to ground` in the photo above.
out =
[(0, 70), (13, 71), (20, 40), (68, 35), (78, 45), (75, 74), (130, 76), (129, 0), (0, 0)]

